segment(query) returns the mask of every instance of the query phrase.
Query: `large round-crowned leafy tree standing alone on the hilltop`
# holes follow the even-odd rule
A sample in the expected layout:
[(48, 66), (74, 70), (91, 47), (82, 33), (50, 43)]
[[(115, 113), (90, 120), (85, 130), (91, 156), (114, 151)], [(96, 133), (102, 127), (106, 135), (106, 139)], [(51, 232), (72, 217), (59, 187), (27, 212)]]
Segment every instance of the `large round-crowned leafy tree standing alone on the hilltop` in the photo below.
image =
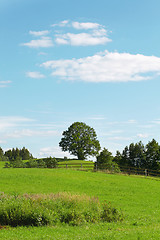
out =
[(59, 143), (62, 151), (69, 151), (78, 159), (97, 156), (101, 148), (95, 130), (83, 122), (73, 123), (62, 135)]

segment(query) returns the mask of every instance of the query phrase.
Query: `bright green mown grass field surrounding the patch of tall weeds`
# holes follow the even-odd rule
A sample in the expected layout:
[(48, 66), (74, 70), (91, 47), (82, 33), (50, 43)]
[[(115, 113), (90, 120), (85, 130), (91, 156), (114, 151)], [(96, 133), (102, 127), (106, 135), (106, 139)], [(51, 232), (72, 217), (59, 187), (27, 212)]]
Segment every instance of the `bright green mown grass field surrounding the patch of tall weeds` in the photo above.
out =
[(125, 220), (82, 226), (0, 229), (0, 239), (160, 239), (160, 181), (72, 169), (5, 169), (0, 162), (0, 192), (6, 194), (86, 194), (121, 209)]

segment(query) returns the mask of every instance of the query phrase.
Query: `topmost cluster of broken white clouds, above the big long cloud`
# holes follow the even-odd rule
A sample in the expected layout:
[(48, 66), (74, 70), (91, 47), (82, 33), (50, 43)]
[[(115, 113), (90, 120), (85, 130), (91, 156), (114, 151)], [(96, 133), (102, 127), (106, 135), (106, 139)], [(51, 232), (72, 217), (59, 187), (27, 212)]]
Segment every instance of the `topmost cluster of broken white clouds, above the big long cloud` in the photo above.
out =
[(69, 20), (64, 20), (51, 26), (53, 29), (50, 31), (29, 31), (31, 36), (38, 37), (39, 39), (32, 39), (30, 42), (21, 45), (30, 48), (48, 48), (53, 47), (56, 44), (93, 46), (111, 42), (111, 39), (108, 38), (105, 27), (98, 23), (71, 22)]

